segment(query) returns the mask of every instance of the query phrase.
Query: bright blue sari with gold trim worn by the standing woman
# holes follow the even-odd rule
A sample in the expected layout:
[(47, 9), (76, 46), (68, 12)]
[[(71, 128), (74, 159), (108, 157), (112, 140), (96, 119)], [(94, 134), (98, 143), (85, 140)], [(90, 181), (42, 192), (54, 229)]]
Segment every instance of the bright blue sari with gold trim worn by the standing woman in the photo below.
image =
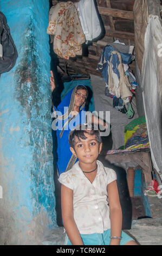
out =
[[(75, 126), (86, 123), (85, 103), (80, 106), (80, 112), (74, 118), (72, 118), (72, 115), (69, 115), (67, 111), (68, 108), (70, 111), (73, 110), (75, 92), (76, 87), (70, 90), (70, 92), (61, 101), (59, 106), (57, 106), (57, 108), (53, 106), (56, 115), (56, 118), (53, 122), (55, 122), (57, 138), (57, 149), (54, 150), (54, 156), (57, 163), (58, 175), (72, 168), (74, 163), (77, 161), (76, 157), (74, 157), (70, 151), (68, 142), (69, 132)], [(61, 117), (63, 120), (61, 120)], [(53, 125), (52, 127), (54, 127)], [(64, 129), (62, 129), (63, 126)]]

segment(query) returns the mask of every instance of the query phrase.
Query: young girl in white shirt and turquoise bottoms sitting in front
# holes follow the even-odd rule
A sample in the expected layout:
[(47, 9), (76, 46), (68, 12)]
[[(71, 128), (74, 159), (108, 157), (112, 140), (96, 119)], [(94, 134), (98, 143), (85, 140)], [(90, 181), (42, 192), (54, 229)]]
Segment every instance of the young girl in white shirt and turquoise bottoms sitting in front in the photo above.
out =
[(97, 160), (99, 131), (72, 130), (70, 150), (79, 159), (60, 175), (63, 225), (67, 245), (137, 245), (122, 227), (116, 174)]

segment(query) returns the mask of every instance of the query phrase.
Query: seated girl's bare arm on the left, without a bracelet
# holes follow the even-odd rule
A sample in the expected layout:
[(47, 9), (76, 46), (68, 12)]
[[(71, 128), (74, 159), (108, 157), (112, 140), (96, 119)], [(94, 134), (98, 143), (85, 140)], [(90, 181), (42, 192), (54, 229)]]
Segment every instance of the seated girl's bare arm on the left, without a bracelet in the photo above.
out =
[(61, 185), (62, 220), (72, 245), (83, 245), (79, 230), (73, 216), (73, 190)]

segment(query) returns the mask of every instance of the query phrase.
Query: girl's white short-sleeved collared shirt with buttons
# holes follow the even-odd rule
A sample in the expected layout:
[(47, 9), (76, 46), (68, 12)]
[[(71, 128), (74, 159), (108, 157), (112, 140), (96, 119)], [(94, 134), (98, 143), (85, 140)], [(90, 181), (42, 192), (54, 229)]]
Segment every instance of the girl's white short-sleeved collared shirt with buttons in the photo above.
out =
[(111, 228), (107, 185), (116, 180), (116, 173), (98, 160), (97, 164), (92, 183), (83, 174), (79, 162), (59, 177), (61, 184), (73, 190), (74, 220), (80, 234), (103, 233)]

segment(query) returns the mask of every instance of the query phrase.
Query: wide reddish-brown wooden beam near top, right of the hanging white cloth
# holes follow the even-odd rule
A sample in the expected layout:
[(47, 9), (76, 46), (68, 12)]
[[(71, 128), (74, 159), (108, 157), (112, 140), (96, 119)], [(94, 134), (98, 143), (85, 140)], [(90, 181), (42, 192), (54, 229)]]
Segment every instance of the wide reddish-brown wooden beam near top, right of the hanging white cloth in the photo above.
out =
[(98, 6), (100, 14), (112, 16), (115, 18), (121, 18), (126, 20), (134, 20), (133, 11), (124, 11), (119, 9), (112, 9)]

